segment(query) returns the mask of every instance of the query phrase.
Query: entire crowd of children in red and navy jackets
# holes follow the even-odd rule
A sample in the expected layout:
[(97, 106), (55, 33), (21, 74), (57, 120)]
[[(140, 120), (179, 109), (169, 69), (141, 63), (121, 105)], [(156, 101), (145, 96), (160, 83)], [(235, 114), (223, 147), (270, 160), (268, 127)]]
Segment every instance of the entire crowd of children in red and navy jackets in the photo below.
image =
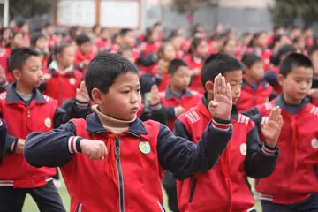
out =
[(0, 36), (0, 211), (318, 211), (311, 28)]

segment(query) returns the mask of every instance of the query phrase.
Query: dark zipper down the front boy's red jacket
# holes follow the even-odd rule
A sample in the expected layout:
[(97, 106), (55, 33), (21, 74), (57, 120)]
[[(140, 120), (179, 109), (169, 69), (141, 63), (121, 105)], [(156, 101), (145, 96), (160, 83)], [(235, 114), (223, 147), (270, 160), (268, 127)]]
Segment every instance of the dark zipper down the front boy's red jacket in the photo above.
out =
[(119, 208), (120, 212), (125, 212), (125, 202), (124, 202), (124, 178), (123, 171), (120, 163), (120, 140), (115, 138), (115, 155), (118, 173), (118, 189), (119, 189)]

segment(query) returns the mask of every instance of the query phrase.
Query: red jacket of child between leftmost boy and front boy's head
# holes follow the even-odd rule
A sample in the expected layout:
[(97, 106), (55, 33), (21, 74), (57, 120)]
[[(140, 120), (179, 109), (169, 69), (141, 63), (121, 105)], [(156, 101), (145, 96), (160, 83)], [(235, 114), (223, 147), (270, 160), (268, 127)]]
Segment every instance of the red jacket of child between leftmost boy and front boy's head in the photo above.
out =
[(43, 94), (49, 95), (57, 100), (57, 105), (61, 106), (67, 99), (75, 98), (76, 88), (82, 80), (82, 73), (78, 70), (61, 74), (53, 69), (49, 70), (51, 78), (44, 87)]

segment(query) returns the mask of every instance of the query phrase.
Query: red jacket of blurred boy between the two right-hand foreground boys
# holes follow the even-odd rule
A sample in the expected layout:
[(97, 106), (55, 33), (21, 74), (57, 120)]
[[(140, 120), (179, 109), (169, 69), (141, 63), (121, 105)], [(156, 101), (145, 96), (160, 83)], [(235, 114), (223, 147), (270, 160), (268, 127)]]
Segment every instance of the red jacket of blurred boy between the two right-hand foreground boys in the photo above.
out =
[(251, 87), (243, 80), (241, 95), (236, 107), (239, 112), (245, 112), (252, 109), (254, 106), (269, 102), (270, 99), (275, 98), (273, 87), (265, 80), (262, 80), (257, 87)]

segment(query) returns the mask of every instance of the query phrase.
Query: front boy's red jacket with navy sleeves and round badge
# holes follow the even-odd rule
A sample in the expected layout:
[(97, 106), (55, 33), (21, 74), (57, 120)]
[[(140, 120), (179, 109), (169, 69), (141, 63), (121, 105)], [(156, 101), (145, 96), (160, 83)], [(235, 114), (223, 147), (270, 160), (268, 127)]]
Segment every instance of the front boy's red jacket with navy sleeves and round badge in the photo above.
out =
[[(231, 139), (231, 124), (213, 123), (202, 133), (200, 145), (194, 145), (164, 125), (142, 123), (138, 118), (128, 132), (111, 134), (93, 113), (87, 120), (72, 119), (49, 133), (31, 133), (24, 154), (35, 167), (61, 167), (71, 196), (71, 212), (79, 211), (77, 208), (159, 212), (164, 211), (162, 170), (180, 174), (209, 170), (222, 155)], [(80, 153), (82, 138), (102, 140), (112, 148), (104, 160), (92, 161)], [(113, 163), (108, 163), (111, 160)], [(108, 178), (109, 167), (115, 167), (116, 180)]]

